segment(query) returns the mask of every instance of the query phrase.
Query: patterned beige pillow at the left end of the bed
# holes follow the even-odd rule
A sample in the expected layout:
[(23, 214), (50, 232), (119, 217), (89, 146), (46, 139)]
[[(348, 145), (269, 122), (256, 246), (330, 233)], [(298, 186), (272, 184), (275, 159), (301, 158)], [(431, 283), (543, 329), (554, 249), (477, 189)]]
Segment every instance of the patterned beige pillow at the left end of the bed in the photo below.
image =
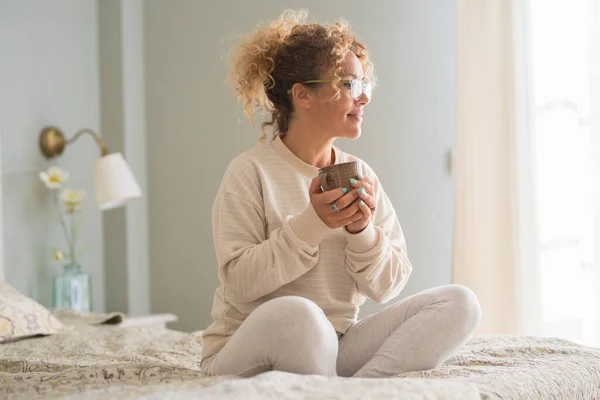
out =
[(44, 306), (0, 281), (0, 343), (70, 330)]

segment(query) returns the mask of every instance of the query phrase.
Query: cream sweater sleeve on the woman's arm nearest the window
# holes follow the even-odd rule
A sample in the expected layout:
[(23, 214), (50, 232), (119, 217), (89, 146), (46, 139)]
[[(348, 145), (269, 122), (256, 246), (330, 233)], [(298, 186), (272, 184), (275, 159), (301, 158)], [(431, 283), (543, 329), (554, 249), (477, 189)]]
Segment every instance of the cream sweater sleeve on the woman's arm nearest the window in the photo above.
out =
[(371, 222), (358, 234), (344, 233), (346, 269), (363, 295), (385, 303), (406, 286), (412, 265), (396, 212), (376, 183), (376, 211)]

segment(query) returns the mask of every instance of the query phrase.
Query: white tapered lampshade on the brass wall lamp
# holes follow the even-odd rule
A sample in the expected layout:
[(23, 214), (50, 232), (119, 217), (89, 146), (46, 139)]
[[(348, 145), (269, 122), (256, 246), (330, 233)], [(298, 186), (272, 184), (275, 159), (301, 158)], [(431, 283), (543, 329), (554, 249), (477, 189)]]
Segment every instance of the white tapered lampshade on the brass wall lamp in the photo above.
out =
[(96, 202), (100, 210), (109, 210), (142, 197), (140, 186), (121, 153), (110, 153), (96, 161)]

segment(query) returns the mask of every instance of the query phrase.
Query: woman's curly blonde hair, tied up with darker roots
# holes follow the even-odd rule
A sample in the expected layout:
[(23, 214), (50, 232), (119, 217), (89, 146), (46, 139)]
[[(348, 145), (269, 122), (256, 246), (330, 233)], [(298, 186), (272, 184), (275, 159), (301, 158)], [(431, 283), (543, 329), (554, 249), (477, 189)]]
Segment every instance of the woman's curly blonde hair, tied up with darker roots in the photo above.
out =
[(365, 45), (350, 33), (348, 22), (322, 26), (307, 24), (306, 10), (286, 10), (267, 27), (246, 35), (234, 49), (229, 78), (235, 86), (244, 113), (254, 124), (254, 115), (266, 110), (271, 120), (261, 125), (261, 141), (267, 128), (273, 137), (288, 130), (293, 104), (287, 91), (295, 83), (318, 79), (329, 72), (340, 96), (340, 70), (348, 51), (358, 57), (365, 79), (375, 83), (373, 65)]

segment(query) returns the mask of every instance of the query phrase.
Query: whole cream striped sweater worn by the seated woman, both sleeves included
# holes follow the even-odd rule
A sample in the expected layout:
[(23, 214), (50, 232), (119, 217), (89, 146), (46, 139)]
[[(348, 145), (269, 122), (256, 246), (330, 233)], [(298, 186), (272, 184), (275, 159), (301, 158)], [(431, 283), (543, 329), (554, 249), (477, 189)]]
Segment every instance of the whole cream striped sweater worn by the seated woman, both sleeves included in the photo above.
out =
[(412, 266), (394, 208), (363, 161), (334, 147), (335, 163), (359, 161), (375, 182), (376, 211), (358, 234), (331, 229), (310, 204), (318, 169), (279, 137), (257, 144), (227, 168), (212, 210), (221, 285), (204, 331), (202, 357), (218, 352), (267, 300), (314, 301), (339, 333), (357, 320), (365, 296), (384, 303), (406, 285)]

